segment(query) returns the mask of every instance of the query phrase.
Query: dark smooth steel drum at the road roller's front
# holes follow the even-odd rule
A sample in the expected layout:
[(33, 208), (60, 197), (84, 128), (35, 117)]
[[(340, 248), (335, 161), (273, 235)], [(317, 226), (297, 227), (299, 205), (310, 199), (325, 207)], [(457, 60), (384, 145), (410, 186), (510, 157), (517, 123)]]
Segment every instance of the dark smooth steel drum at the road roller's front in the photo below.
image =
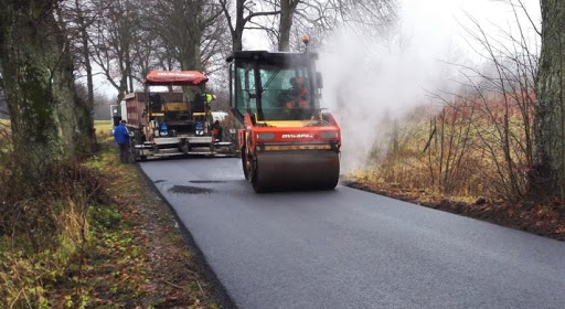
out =
[(257, 192), (280, 190), (331, 190), (340, 175), (335, 151), (259, 152), (253, 187)]

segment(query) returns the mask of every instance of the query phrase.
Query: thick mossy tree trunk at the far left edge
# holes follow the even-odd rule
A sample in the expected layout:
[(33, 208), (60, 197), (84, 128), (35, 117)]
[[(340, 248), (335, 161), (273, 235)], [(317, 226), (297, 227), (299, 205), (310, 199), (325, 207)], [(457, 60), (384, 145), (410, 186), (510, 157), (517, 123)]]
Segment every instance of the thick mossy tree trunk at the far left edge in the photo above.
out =
[[(0, 62), (19, 171), (30, 184), (61, 159), (72, 157), (57, 110), (62, 94), (60, 46), (52, 8), (43, 1), (2, 1)], [(64, 71), (64, 70), (63, 70)], [(72, 103), (72, 102), (71, 102)]]

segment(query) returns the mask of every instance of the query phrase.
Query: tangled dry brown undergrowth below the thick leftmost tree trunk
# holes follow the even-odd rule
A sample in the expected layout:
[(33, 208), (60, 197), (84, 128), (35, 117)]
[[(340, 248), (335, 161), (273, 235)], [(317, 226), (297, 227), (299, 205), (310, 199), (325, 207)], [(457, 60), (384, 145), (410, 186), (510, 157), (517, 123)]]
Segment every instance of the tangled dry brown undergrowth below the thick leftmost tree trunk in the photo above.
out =
[(0, 308), (49, 307), (47, 287), (82, 265), (89, 206), (107, 198), (97, 173), (77, 163), (30, 185), (14, 172), (18, 157), (0, 149)]

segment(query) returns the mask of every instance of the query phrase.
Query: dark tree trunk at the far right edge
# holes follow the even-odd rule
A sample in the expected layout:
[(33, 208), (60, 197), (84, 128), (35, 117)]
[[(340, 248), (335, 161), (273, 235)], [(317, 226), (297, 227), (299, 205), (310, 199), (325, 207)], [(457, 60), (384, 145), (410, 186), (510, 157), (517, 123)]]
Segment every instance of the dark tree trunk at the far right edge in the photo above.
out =
[(565, 2), (542, 0), (542, 53), (537, 73), (534, 164), (530, 188), (534, 195), (561, 194), (565, 189), (564, 78)]

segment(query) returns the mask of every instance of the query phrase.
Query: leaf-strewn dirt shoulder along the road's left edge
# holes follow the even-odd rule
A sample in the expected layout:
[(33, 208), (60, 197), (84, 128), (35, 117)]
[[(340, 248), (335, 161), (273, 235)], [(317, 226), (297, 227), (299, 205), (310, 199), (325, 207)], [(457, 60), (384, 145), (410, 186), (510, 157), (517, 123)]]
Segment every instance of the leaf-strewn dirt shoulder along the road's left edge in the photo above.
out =
[[(102, 147), (88, 164), (103, 174), (110, 203), (93, 210), (93, 247), (87, 270), (81, 273), (83, 295), (88, 298), (83, 303), (90, 308), (234, 308), (188, 231), (138, 166), (117, 162), (113, 143)], [(58, 292), (71, 294), (64, 285)]]

